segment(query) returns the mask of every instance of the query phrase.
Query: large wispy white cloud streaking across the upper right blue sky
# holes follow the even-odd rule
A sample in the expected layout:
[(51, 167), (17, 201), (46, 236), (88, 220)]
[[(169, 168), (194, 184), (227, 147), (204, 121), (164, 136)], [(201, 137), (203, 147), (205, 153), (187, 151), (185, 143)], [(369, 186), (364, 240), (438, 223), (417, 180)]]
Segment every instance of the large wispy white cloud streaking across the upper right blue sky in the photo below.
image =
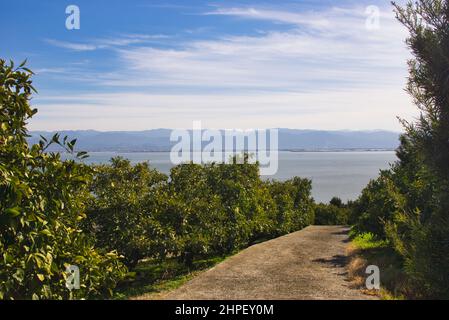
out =
[(123, 48), (118, 53), (126, 72), (136, 73), (134, 81), (110, 78), (104, 84), (304, 91), (403, 81), (405, 30), (391, 14), (385, 13), (374, 31), (365, 28), (362, 7), (304, 14), (233, 8), (208, 14), (285, 21), (294, 28), (193, 40), (180, 48)]

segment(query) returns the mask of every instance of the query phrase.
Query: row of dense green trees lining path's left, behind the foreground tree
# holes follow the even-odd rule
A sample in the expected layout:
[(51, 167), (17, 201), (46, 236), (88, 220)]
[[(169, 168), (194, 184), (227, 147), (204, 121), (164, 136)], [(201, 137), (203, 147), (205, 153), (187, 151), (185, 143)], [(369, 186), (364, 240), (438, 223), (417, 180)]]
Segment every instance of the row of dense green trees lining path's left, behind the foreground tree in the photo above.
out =
[(257, 164), (183, 164), (165, 176), (115, 158), (95, 172), (85, 229), (130, 268), (149, 257), (191, 264), (314, 220), (309, 180), (262, 181)]

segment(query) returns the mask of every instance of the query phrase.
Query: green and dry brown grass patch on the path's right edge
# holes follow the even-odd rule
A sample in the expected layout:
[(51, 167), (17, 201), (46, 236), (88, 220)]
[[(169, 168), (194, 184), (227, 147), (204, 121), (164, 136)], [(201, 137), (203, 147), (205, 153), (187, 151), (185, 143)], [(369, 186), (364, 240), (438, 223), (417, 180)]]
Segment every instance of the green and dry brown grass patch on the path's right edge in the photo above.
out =
[[(376, 239), (371, 233), (355, 235), (349, 248), (349, 278), (354, 286), (365, 293), (384, 300), (405, 299), (409, 296), (407, 277), (403, 272), (403, 261), (386, 240)], [(376, 265), (380, 269), (381, 290), (365, 288), (366, 267)]]

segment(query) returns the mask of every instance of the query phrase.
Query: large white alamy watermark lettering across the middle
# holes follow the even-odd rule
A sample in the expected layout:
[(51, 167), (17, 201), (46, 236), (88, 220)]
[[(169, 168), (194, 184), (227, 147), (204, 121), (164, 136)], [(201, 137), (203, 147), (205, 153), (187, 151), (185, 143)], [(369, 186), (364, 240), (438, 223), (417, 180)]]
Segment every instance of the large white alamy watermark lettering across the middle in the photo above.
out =
[(193, 130), (173, 130), (170, 141), (176, 142), (170, 152), (174, 165), (193, 162), (243, 163), (258, 162), (260, 174), (270, 176), (278, 170), (278, 130), (203, 130), (201, 121), (193, 123)]

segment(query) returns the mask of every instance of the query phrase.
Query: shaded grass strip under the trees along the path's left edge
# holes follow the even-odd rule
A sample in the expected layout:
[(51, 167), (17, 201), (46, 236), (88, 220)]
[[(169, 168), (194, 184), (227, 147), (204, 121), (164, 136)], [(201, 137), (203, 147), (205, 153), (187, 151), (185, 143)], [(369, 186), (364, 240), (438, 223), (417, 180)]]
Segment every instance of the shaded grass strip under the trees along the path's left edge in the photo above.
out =
[(176, 258), (166, 260), (148, 259), (140, 261), (129, 279), (117, 288), (117, 299), (158, 299), (164, 292), (174, 290), (225, 260), (227, 256), (199, 259), (188, 268)]

